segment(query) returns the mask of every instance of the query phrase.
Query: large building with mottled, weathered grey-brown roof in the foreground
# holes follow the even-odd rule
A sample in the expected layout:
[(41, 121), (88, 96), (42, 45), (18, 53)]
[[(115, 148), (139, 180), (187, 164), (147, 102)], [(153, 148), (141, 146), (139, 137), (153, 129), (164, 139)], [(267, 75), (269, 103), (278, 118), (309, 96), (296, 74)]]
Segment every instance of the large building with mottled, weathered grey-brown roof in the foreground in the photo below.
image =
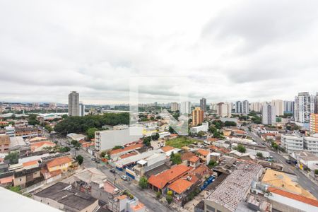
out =
[(262, 167), (254, 163), (242, 163), (216, 187), (204, 200), (204, 211), (234, 212), (245, 200), (252, 182), (261, 176)]

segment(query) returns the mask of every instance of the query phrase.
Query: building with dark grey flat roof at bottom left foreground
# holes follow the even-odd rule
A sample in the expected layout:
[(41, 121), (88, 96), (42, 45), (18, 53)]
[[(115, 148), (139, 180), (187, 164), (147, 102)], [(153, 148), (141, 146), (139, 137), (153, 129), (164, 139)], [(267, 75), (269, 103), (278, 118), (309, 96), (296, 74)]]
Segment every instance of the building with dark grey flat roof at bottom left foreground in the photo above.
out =
[(98, 208), (98, 199), (74, 189), (70, 184), (57, 182), (33, 195), (33, 199), (62, 211), (90, 211)]

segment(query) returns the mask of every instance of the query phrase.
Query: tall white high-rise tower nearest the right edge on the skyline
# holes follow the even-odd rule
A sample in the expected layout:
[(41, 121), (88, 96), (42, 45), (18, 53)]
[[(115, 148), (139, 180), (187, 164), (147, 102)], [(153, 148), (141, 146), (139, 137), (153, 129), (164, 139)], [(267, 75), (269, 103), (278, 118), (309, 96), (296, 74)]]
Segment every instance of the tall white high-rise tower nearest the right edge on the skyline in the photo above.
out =
[(310, 114), (314, 113), (314, 95), (308, 92), (298, 93), (295, 97), (295, 122), (309, 123)]

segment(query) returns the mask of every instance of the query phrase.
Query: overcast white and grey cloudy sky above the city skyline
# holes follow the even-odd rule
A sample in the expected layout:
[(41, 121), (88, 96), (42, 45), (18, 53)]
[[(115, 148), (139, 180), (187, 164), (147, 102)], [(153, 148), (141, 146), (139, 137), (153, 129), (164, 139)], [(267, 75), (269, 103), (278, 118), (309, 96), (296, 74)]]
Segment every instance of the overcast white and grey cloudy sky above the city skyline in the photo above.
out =
[(0, 1), (0, 76), (11, 102), (293, 100), (318, 92), (318, 1)]

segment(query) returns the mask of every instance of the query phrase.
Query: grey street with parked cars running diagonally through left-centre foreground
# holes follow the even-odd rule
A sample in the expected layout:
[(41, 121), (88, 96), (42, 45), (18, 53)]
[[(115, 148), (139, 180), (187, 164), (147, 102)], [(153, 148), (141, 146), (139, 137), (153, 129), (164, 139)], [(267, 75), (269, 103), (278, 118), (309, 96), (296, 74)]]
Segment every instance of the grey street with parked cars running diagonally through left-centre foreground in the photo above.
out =
[[(75, 150), (74, 148), (71, 149), (71, 153), (74, 155)], [(174, 211), (172, 208), (168, 208), (163, 203), (160, 203), (157, 199), (155, 199), (155, 193), (152, 192), (150, 189), (139, 189), (138, 182), (135, 180), (124, 181), (120, 178), (120, 176), (124, 175), (124, 172), (119, 172), (116, 170), (117, 174), (114, 175), (110, 172), (110, 169), (103, 165), (102, 163), (95, 163), (95, 161), (91, 160), (92, 155), (87, 153), (86, 151), (78, 150), (76, 151), (76, 155), (83, 155), (84, 167), (97, 167), (98, 170), (101, 170), (110, 182), (114, 183), (119, 189), (121, 190), (129, 190), (131, 194), (136, 196), (145, 206), (148, 208), (148, 211)], [(116, 180), (114, 180), (116, 179)]]

